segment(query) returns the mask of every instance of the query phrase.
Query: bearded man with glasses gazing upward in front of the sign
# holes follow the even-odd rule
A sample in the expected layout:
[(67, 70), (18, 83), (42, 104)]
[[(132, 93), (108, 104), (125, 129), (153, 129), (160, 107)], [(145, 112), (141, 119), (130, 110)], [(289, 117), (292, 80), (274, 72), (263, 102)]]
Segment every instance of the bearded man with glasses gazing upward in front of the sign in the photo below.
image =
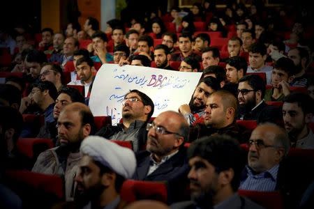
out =
[(154, 113), (154, 102), (148, 95), (136, 89), (131, 90), (122, 100), (122, 122), (106, 125), (96, 135), (106, 139), (132, 141), (133, 150), (138, 151), (147, 141), (147, 121)]

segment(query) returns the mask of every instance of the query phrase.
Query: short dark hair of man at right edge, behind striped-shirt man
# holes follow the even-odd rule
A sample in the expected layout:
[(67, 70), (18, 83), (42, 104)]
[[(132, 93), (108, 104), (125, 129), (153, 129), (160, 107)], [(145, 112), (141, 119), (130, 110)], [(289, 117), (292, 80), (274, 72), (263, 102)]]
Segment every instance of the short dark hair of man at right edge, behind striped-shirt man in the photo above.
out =
[(310, 95), (301, 92), (292, 92), (289, 95), (286, 95), (283, 98), (283, 102), (287, 103), (297, 103), (298, 107), (300, 107), (305, 114), (313, 114), (314, 113), (314, 102)]

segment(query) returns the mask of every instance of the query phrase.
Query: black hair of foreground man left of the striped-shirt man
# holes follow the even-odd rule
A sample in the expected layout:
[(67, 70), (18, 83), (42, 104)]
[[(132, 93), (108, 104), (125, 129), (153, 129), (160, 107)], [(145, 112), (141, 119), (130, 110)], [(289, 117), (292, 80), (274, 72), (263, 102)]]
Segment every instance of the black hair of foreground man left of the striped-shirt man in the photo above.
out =
[(215, 167), (216, 173), (232, 169), (234, 177), (231, 186), (234, 192), (237, 191), (241, 171), (245, 166), (244, 153), (239, 142), (225, 134), (211, 135), (194, 141), (188, 148), (188, 159), (202, 157)]

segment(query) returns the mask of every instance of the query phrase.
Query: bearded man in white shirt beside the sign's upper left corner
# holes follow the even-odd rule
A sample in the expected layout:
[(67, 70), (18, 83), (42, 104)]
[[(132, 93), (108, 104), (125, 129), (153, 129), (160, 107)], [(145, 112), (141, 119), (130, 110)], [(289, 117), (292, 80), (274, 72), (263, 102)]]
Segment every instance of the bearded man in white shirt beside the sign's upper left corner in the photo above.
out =
[(68, 83), (68, 85), (84, 86), (85, 98), (89, 98), (95, 79), (95, 76), (93, 75), (94, 69), (94, 62), (89, 57), (78, 59), (76, 62), (76, 72), (80, 79), (74, 82), (72, 81)]

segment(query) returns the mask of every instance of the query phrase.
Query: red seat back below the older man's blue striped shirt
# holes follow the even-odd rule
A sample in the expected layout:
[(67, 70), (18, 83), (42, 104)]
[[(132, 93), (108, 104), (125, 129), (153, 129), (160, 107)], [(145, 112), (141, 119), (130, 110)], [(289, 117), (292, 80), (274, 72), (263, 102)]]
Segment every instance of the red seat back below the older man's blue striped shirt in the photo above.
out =
[(251, 190), (238, 190), (238, 194), (246, 196), (248, 199), (255, 201), (264, 208), (281, 209), (283, 208), (283, 196), (280, 192), (257, 192)]

